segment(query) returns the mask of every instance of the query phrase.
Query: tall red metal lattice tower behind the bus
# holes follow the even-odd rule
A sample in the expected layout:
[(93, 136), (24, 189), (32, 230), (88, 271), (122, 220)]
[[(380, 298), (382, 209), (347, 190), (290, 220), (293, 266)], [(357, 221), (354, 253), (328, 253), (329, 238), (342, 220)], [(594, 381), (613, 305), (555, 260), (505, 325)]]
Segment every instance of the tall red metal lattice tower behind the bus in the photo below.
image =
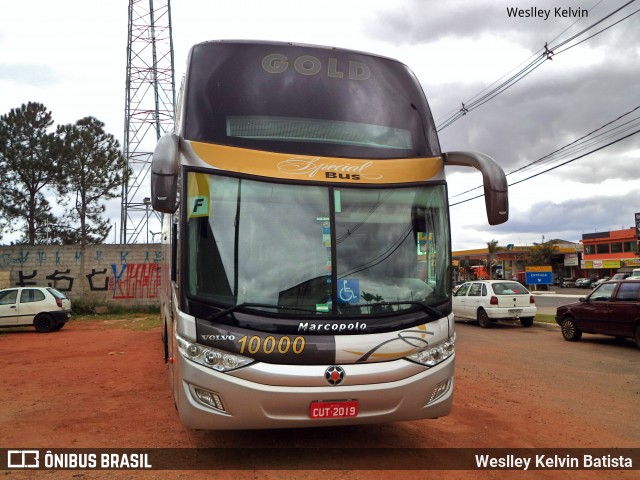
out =
[(158, 139), (173, 128), (175, 81), (170, 0), (129, 0), (120, 242), (149, 241), (149, 172)]

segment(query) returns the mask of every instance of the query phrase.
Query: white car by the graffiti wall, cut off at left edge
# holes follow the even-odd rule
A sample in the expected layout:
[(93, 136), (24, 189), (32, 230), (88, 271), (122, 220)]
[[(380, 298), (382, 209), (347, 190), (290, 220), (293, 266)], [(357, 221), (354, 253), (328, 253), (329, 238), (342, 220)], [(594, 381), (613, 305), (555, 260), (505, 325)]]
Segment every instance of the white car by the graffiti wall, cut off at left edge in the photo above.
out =
[(55, 288), (0, 290), (0, 327), (33, 325), (38, 332), (60, 330), (71, 319), (71, 300)]

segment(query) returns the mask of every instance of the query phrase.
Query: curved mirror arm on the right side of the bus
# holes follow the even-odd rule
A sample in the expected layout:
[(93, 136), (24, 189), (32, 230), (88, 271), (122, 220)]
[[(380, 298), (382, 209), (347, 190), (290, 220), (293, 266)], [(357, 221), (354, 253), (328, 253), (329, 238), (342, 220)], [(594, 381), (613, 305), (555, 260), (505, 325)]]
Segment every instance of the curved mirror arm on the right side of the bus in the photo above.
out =
[(489, 225), (500, 225), (509, 219), (507, 177), (495, 160), (478, 152), (447, 152), (442, 156), (445, 165), (473, 167), (482, 173)]

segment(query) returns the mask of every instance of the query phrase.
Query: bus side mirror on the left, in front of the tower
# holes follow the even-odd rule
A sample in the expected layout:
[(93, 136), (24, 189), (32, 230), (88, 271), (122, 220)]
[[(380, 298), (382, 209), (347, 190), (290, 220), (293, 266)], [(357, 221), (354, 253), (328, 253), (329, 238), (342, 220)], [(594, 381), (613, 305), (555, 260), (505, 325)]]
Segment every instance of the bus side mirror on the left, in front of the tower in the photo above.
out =
[(158, 141), (151, 160), (151, 206), (157, 212), (175, 213), (178, 208), (179, 142), (170, 133)]

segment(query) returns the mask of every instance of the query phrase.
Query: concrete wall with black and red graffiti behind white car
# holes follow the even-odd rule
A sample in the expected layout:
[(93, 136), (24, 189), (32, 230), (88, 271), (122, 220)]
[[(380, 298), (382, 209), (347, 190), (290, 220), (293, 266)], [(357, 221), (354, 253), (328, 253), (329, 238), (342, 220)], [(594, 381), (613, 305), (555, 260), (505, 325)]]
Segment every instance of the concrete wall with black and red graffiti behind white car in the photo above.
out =
[(50, 286), (92, 305), (157, 305), (159, 244), (0, 246), (0, 288)]

